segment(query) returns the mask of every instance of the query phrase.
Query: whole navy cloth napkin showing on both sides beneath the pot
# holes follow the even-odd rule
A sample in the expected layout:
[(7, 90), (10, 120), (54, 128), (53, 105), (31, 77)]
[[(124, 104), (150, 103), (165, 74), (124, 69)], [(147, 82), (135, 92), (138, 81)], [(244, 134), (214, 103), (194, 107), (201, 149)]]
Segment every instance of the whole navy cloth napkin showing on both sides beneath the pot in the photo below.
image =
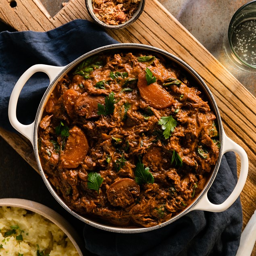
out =
[[(85, 20), (75, 20), (48, 32), (0, 33), (0, 126), (14, 131), (8, 121), (8, 101), (19, 77), (35, 64), (64, 66), (100, 46), (117, 43), (102, 29)], [(22, 90), (17, 117), (29, 124), (48, 77), (33, 75)], [(219, 204), (237, 181), (235, 154), (223, 156), (219, 172), (208, 192), (209, 200)], [(235, 255), (239, 246), (242, 211), (239, 198), (220, 213), (192, 211), (174, 223), (154, 231), (121, 234), (85, 225), (87, 250), (98, 255)]]

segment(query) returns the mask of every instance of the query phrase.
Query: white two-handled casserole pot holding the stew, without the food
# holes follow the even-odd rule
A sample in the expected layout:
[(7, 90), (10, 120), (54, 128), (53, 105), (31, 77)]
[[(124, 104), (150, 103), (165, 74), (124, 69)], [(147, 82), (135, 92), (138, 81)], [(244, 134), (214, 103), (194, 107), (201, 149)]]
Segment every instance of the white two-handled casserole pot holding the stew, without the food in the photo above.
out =
[[(73, 69), (75, 66), (77, 66), (81, 61), (83, 61), (85, 58), (88, 58), (90, 56), (93, 56), (95, 54), (104, 54), (105, 51), (122, 51), (122, 50), (129, 50), (131, 52), (136, 50), (142, 50), (142, 51), (151, 51), (152, 53), (156, 52), (157, 54), (161, 54), (164, 58), (169, 59), (170, 61), (176, 62), (177, 65), (179, 65), (180, 69), (184, 70), (185, 72), (189, 73), (192, 78), (195, 79), (198, 87), (204, 92), (204, 94), (208, 97), (208, 104), (211, 106), (212, 111), (214, 112), (216, 116), (216, 122), (217, 127), (219, 131), (219, 140), (221, 142), (221, 147), (219, 149), (219, 158), (216, 162), (216, 165), (214, 169), (212, 170), (211, 176), (206, 183), (204, 189), (201, 191), (201, 193), (198, 195), (198, 197), (192, 202), (189, 206), (187, 206), (183, 211), (181, 211), (179, 214), (173, 216), (168, 221), (161, 223), (160, 225), (154, 226), (154, 227), (113, 227), (111, 225), (105, 225), (96, 221), (93, 221), (92, 219), (87, 218), (86, 216), (81, 216), (77, 214), (76, 212), (73, 212), (66, 204), (65, 202), (58, 196), (48, 179), (46, 178), (46, 175), (44, 173), (44, 170), (42, 169), (41, 163), (40, 163), (40, 157), (37, 147), (37, 136), (38, 136), (38, 128), (40, 125), (40, 121), (42, 119), (42, 114), (44, 111), (44, 106), (48, 100), (49, 95), (51, 94), (52, 90), (54, 89), (54, 86), (58, 83), (58, 81), (71, 69)], [(16, 108), (17, 108), (17, 101), (19, 99), (19, 94), (21, 93), (21, 89), (25, 85), (26, 81), (36, 72), (44, 72), (46, 73), (50, 78), (50, 85), (48, 89), (46, 90), (42, 101), (40, 103), (40, 106), (37, 110), (37, 114), (35, 117), (35, 121), (31, 123), (30, 125), (23, 125), (21, 124), (16, 116)], [(108, 231), (114, 231), (114, 232), (121, 232), (121, 233), (137, 233), (137, 232), (145, 232), (150, 231), (153, 229), (157, 229), (160, 227), (163, 227), (169, 223), (172, 223), (173, 221), (179, 219), (181, 216), (184, 216), (187, 212), (191, 210), (206, 210), (210, 212), (222, 212), (229, 208), (235, 202), (235, 200), (239, 197), (244, 184), (246, 182), (247, 174), (248, 174), (248, 156), (243, 148), (233, 142), (224, 132), (221, 117), (219, 114), (218, 107), (216, 105), (216, 102), (212, 96), (212, 93), (210, 92), (210, 89), (207, 87), (206, 83), (202, 80), (202, 78), (192, 69), (189, 65), (187, 65), (183, 60), (177, 58), (173, 54), (170, 54), (169, 52), (166, 52), (164, 50), (142, 45), (142, 44), (113, 44), (109, 46), (104, 46), (95, 50), (92, 50), (91, 52), (88, 52), (84, 54), (83, 56), (77, 58), (73, 62), (71, 62), (69, 65), (65, 67), (55, 67), (55, 66), (48, 66), (48, 65), (34, 65), (31, 68), (29, 68), (25, 73), (20, 77), (20, 79), (17, 81), (12, 94), (10, 96), (10, 103), (9, 103), (9, 109), (8, 109), (8, 115), (10, 119), (10, 123), (12, 126), (19, 131), (21, 134), (23, 134), (25, 137), (27, 137), (30, 142), (33, 144), (33, 148), (35, 151), (35, 157), (37, 159), (38, 168), (40, 170), (40, 173), (42, 175), (42, 178), (44, 179), (44, 182), (46, 183), (46, 186), (54, 196), (54, 198), (71, 214), (76, 216), (81, 221), (84, 221), (85, 223), (92, 225), (94, 227), (98, 227), (100, 229), (108, 230)], [(208, 200), (207, 192), (212, 185), (219, 166), (221, 164), (221, 158), (225, 152), (228, 151), (234, 151), (240, 156), (241, 160), (241, 167), (240, 167), (240, 175), (239, 179), (237, 181), (237, 185), (235, 186), (234, 190), (232, 191), (231, 195), (223, 202), (222, 204), (212, 204)]]

